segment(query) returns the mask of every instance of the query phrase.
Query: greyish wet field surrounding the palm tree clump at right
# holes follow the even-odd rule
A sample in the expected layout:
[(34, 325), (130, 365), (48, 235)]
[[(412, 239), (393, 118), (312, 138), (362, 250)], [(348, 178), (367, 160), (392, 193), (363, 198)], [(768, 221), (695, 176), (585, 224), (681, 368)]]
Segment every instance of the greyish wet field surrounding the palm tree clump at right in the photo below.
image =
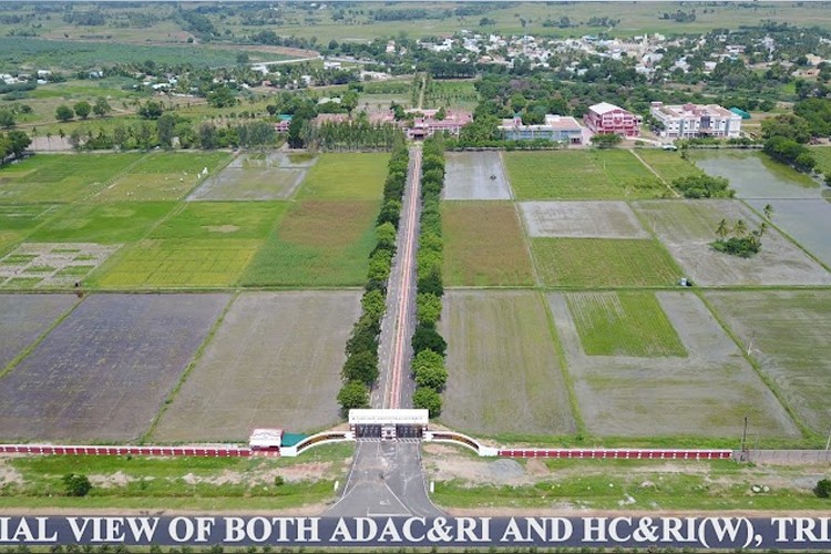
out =
[(831, 274), (772, 228), (762, 237), (761, 252), (751, 258), (715, 250), (710, 243), (718, 238), (721, 219), (743, 219), (750, 229), (761, 224), (739, 201), (637, 202), (634, 207), (650, 222), (685, 274), (701, 285), (831, 284)]

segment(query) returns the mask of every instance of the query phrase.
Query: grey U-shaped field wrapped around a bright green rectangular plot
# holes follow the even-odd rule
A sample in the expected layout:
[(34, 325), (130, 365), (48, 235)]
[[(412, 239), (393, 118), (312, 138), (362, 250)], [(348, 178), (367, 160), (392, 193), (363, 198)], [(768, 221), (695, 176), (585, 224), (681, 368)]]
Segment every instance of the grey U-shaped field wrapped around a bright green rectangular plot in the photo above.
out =
[(697, 296), (657, 293), (657, 298), (688, 357), (587, 356), (566, 296), (548, 295), (591, 433), (740, 437), (748, 416), (767, 437), (799, 435), (776, 397)]

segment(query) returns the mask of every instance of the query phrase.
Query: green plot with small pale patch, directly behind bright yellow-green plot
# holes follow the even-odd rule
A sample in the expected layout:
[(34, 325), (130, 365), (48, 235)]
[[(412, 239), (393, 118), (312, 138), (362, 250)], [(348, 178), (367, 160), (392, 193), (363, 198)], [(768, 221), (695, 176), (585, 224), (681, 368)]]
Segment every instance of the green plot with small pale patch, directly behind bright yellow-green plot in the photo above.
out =
[(286, 204), (277, 202), (191, 202), (151, 238), (265, 238), (285, 212)]

